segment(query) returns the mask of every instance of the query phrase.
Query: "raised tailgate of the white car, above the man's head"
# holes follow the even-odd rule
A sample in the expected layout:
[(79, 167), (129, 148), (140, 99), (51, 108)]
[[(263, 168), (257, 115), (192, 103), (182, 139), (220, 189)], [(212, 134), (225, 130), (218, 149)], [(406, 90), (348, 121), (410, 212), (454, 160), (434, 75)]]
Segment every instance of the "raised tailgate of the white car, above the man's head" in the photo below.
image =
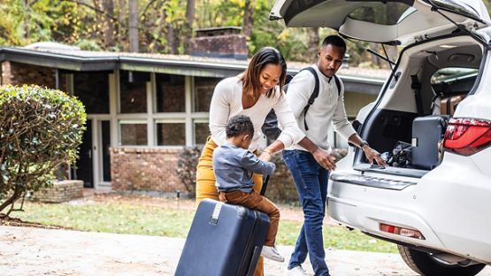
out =
[[(385, 16), (375, 21), (373, 11)], [(287, 27), (328, 27), (345, 37), (393, 45), (407, 45), (456, 30), (489, 26), (489, 14), (480, 0), (278, 0), (270, 19)]]

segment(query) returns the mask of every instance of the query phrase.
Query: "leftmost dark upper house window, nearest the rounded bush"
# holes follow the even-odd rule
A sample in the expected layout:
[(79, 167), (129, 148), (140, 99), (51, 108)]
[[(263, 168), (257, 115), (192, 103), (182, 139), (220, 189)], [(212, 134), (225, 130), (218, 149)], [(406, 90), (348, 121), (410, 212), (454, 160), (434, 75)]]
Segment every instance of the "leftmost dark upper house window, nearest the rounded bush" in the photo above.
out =
[(73, 73), (73, 90), (88, 114), (109, 114), (109, 73)]

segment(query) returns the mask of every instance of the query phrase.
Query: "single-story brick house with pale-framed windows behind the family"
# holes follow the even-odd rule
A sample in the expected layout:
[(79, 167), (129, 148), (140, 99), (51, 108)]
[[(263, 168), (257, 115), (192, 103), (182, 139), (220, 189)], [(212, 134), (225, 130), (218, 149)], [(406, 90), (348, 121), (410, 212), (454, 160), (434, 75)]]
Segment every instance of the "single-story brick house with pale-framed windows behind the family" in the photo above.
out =
[[(69, 178), (84, 180), (86, 188), (173, 193), (183, 190), (174, 173), (182, 147), (203, 143), (209, 134), (215, 84), (247, 66), (242, 35), (208, 31), (212, 35), (196, 37), (194, 56), (96, 52), (52, 43), (1, 47), (0, 84), (59, 88), (84, 103), (87, 131)], [(288, 63), (288, 73), (304, 66)], [(341, 69), (349, 118), (376, 98), (387, 74)], [(334, 145), (346, 146), (331, 136)]]

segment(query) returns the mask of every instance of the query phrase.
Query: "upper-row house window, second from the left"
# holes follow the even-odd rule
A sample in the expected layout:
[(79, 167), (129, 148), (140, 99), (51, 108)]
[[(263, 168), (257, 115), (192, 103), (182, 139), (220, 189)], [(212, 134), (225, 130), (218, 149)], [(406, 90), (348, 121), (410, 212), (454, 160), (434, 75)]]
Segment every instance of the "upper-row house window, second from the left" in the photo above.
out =
[(121, 113), (147, 112), (147, 81), (150, 81), (150, 73), (119, 71)]

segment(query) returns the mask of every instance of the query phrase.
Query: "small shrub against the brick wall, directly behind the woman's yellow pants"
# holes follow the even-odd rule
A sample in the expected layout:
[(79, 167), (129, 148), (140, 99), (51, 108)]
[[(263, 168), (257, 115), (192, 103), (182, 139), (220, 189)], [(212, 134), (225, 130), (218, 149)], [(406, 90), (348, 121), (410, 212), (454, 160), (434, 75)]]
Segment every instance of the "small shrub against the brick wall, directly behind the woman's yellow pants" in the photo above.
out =
[(200, 147), (185, 147), (179, 155), (175, 174), (190, 196), (196, 193), (196, 167), (201, 156)]

